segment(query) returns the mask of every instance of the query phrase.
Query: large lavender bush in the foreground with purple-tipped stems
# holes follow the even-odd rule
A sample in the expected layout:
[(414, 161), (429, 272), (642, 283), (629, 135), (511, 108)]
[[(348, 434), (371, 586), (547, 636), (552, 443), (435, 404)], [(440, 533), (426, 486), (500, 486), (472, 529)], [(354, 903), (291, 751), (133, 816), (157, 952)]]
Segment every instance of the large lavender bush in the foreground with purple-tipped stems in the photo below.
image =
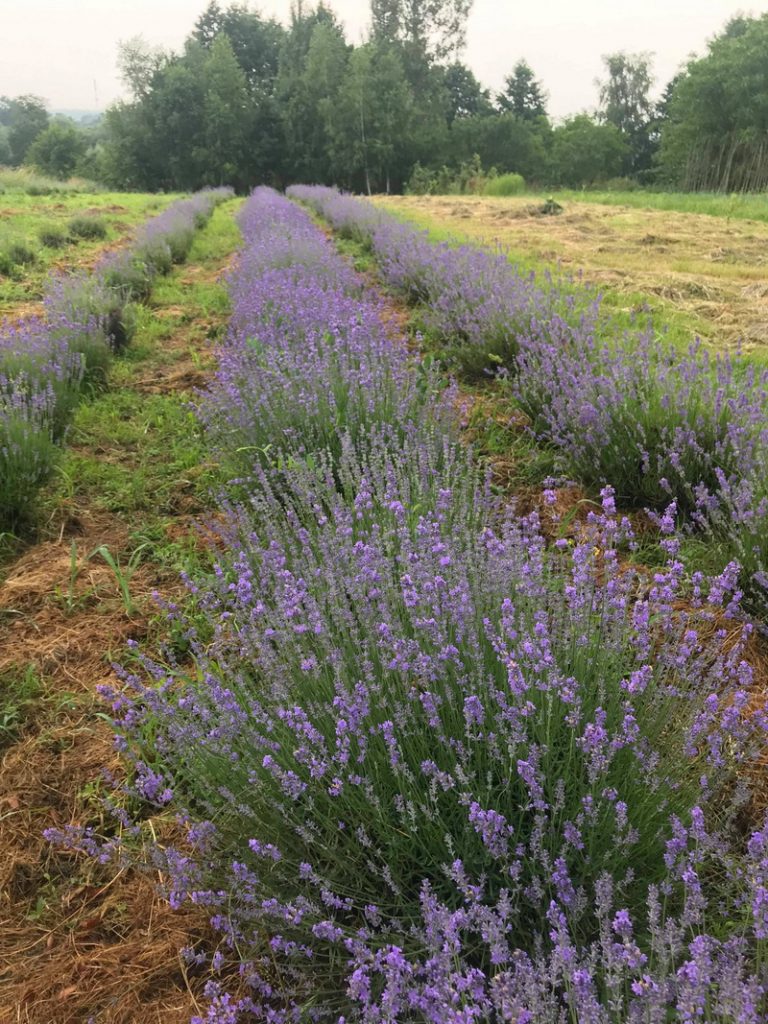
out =
[(409, 515), (398, 465), (382, 490), (359, 467), (349, 505), (289, 474), (256, 525), (236, 513), (197, 672), (157, 668), (116, 697), (137, 795), (204, 822), (191, 859), (159, 852), (172, 900), (212, 906), (262, 1012), (275, 971), (281, 999), (371, 1022), (468, 976), (465, 1006), (487, 1012), (527, 977), (530, 1019), (578, 998), (618, 1024), (644, 1006), (638, 971), (659, 1008), (684, 1007), (688, 943), (719, 959), (726, 922), (751, 936), (724, 961), (748, 1006), (762, 911), (728, 828), (763, 728), (727, 710), (748, 701), (743, 647), (698, 633), (733, 573), (684, 614), (674, 561), (649, 590), (620, 564), (609, 496), (548, 554), (534, 521), (475, 530), (439, 483)]

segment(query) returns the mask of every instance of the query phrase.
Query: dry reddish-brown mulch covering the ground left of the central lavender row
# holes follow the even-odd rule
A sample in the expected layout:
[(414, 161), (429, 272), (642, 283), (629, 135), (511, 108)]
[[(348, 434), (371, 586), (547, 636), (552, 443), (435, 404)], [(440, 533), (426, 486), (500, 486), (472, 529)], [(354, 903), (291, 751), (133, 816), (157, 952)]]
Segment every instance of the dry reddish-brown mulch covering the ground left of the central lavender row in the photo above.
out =
[[(221, 269), (176, 272), (188, 283)], [(211, 317), (201, 325), (184, 310), (157, 312), (175, 317), (175, 330), (163, 360), (138, 367), (146, 379), (131, 386), (168, 393), (204, 383), (210, 354), (193, 354), (190, 339)], [(92, 454), (130, 459), (128, 452)], [(194, 528), (185, 481), (179, 486), (168, 527), (174, 539)], [(157, 878), (95, 864), (42, 835), (69, 823), (114, 828), (101, 805), (109, 785), (99, 780), (120, 763), (95, 688), (115, 682), (111, 664), (124, 657), (126, 640), (157, 629), (153, 591), (173, 598), (181, 590), (175, 575), (141, 564), (130, 581), (135, 610), (126, 612), (103, 560), (83, 556), (103, 544), (127, 558), (131, 528), (120, 516), (62, 501), (46, 539), (4, 569), (0, 687), (32, 666), (44, 696), (20, 737), (0, 750), (0, 1024), (185, 1024), (201, 1010), (204, 979), (190, 976), (179, 950), (210, 947), (206, 914), (171, 911)], [(160, 818), (148, 827), (161, 836), (173, 829)]]

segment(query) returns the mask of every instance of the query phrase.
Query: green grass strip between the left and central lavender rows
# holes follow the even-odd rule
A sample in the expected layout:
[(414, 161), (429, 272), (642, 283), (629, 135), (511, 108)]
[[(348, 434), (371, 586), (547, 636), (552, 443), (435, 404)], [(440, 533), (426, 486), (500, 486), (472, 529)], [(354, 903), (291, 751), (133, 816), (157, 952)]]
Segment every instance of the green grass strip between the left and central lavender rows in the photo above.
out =
[[(139, 524), (137, 537), (155, 539), (154, 549), (175, 516), (210, 507), (218, 467), (189, 409), (190, 390), (153, 394), (143, 388), (189, 352), (194, 366), (210, 359), (228, 297), (205, 271), (239, 239), (232, 204), (225, 204), (196, 237), (188, 264), (158, 281), (150, 304), (138, 311), (134, 342), (113, 365), (109, 390), (75, 415), (44, 516), (55, 517), (55, 507), (65, 503), (129, 517)], [(171, 344), (179, 335), (182, 347)]]

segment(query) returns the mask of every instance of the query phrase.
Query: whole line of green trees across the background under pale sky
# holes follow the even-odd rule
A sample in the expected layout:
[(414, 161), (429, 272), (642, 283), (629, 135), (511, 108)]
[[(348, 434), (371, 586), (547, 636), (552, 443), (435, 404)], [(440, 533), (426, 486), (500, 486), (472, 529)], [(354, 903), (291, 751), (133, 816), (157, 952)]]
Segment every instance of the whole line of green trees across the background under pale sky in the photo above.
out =
[(354, 46), (325, 3), (299, 0), (284, 26), (212, 0), (181, 52), (121, 44), (129, 98), (95, 123), (0, 97), (0, 164), (147, 191), (466, 191), (508, 173), (546, 187), (768, 184), (768, 15), (731, 19), (658, 101), (649, 54), (606, 54), (595, 111), (555, 122), (523, 56), (497, 94), (462, 62), (471, 3), (371, 0)]

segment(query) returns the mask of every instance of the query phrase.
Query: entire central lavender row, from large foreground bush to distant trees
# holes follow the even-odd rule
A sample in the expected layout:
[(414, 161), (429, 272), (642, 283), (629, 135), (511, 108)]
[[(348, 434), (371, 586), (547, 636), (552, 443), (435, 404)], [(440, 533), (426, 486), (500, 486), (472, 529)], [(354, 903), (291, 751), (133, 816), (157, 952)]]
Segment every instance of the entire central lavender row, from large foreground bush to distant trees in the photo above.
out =
[(242, 977), (209, 1022), (764, 1021), (736, 567), (683, 601), (668, 513), (666, 567), (628, 569), (610, 488), (548, 547), (308, 216), (258, 189), (241, 224), (206, 634), (112, 694), (129, 795), (187, 839), (57, 838), (137, 836), (210, 908)]

